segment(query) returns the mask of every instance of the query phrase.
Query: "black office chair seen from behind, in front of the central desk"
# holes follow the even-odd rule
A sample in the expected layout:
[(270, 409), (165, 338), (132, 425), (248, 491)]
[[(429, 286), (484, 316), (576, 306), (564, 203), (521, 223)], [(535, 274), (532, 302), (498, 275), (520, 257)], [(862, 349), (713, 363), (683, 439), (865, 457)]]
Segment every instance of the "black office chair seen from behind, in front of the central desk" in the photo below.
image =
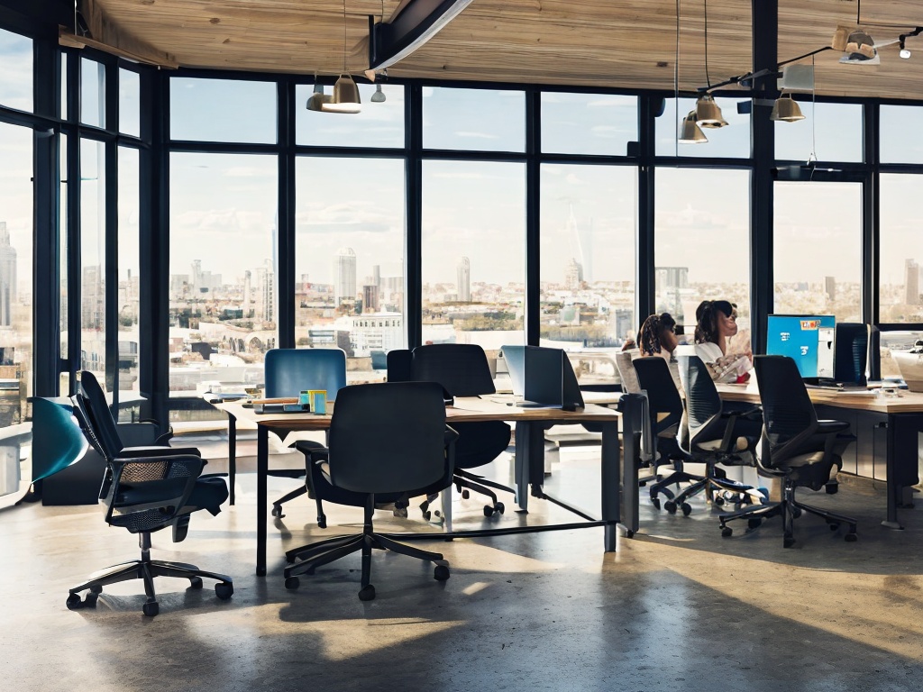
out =
[(359, 598), (370, 601), (375, 598), (370, 583), (373, 548), (434, 562), (434, 578), (449, 579), (449, 565), (441, 554), (376, 533), (372, 515), (384, 496), (450, 487), (457, 437), (446, 425), (445, 401), (437, 383), (385, 382), (343, 388), (330, 421), (330, 448), (314, 450), (309, 465), (317, 468), (330, 488), (359, 500), (346, 504), (364, 507), (363, 531), (288, 551), (285, 557), (294, 564), (285, 567), (285, 588), (297, 589), (300, 574), (313, 574), (322, 565), (362, 551)]

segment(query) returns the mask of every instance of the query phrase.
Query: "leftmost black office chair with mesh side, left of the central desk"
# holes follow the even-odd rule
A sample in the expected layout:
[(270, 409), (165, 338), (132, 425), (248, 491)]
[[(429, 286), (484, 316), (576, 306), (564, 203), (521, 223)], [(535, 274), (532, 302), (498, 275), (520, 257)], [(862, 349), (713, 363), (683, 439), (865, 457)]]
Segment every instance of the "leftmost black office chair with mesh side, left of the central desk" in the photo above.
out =
[[(112, 456), (113, 447), (109, 445), (120, 443), (117, 438), (108, 436), (114, 429), (114, 422), (108, 407), (100, 410), (100, 396), (102, 389), (95, 377), (81, 373), (80, 391), (72, 401), (83, 434), (106, 460), (107, 469), (100, 490), (100, 500), (106, 507), (106, 522), (137, 533), (141, 557), (90, 575), (90, 579), (70, 590), (67, 608), (95, 607), (102, 587), (143, 579), (147, 602), (142, 612), (152, 617), (160, 611), (154, 591), (155, 577), (189, 579), (193, 589), (201, 589), (203, 578), (215, 579), (215, 595), (222, 601), (231, 598), (234, 581), (226, 575), (195, 565), (150, 558), (151, 532), (171, 527), (174, 543), (179, 543), (186, 538), (192, 512), (208, 509), (216, 515), (221, 511), (222, 502), (228, 496), (227, 484), (220, 477), (200, 475), (206, 462), (196, 449), (122, 447), (117, 452), (121, 456)], [(104, 397), (102, 403), (105, 403)], [(74, 425), (65, 426), (63, 434), (72, 435), (74, 428)], [(81, 599), (80, 591), (87, 590), (89, 593)]]

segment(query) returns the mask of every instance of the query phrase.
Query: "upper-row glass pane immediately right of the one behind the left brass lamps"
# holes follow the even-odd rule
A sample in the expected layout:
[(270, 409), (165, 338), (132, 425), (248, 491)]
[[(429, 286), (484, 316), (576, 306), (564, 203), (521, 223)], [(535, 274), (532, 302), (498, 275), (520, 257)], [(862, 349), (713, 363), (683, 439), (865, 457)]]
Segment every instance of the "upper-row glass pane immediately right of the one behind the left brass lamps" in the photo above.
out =
[(423, 89), (423, 146), (525, 150), (525, 94), (493, 89)]

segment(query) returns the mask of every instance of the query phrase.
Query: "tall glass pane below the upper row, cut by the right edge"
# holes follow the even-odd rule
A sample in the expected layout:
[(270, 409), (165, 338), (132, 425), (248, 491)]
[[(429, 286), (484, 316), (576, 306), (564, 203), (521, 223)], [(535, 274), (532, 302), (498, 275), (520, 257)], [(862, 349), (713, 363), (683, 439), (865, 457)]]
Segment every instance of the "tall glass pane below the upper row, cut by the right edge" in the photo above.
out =
[(921, 196), (923, 176), (881, 173), (881, 322), (923, 322)]

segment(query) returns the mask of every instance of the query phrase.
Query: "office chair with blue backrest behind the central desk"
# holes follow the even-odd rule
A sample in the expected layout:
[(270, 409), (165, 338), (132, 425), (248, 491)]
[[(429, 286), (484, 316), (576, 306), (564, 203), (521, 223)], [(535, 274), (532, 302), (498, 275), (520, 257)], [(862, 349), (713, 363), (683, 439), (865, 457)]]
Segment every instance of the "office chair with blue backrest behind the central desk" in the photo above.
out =
[[(297, 397), (305, 389), (325, 389), (327, 400), (337, 398), (337, 392), (346, 386), (346, 353), (342, 349), (271, 349), (264, 363), (265, 396), (267, 399)], [(282, 430), (282, 436), (285, 431)], [(322, 448), (318, 442), (298, 440), (294, 447), (299, 451)], [(270, 471), (270, 476), (300, 478), (303, 468)], [(282, 518), (282, 504), (307, 492), (305, 485), (282, 495), (272, 503), (272, 516)]]

